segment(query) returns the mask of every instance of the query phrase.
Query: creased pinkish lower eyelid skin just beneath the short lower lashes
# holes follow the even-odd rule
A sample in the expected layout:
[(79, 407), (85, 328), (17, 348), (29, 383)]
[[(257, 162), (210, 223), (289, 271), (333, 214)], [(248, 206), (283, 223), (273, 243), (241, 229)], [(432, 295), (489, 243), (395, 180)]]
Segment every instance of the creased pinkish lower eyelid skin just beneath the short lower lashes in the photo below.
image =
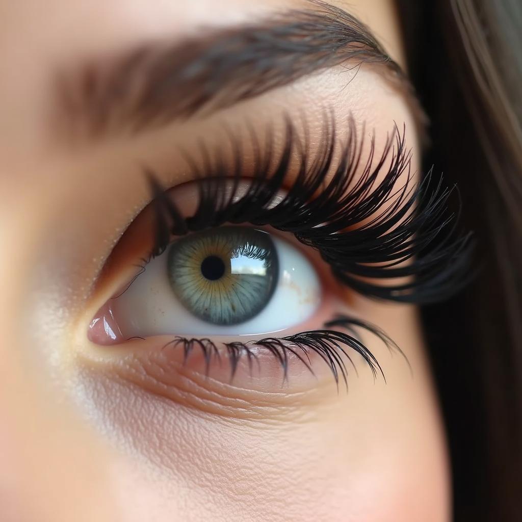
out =
[[(143, 343), (153, 341), (155, 348), (148, 346), (140, 350)], [(281, 367), (270, 354), (261, 354), (261, 364), (267, 370), (271, 365), (274, 373), (269, 376), (252, 378), (247, 366), (241, 363), (233, 381), (230, 381), (230, 368), (223, 361), (221, 369), (204, 372), (204, 361), (200, 354), (193, 354), (186, 363), (182, 350), (164, 350), (165, 338), (136, 341), (136, 350), (120, 357), (104, 354), (99, 360), (82, 360), (89, 372), (102, 373), (118, 382), (123, 382), (144, 392), (167, 399), (171, 404), (191, 408), (203, 414), (218, 415), (225, 418), (264, 420), (280, 417), (289, 422), (293, 414), (298, 414), (302, 406), (319, 405), (328, 390), (334, 386), (333, 380), (325, 379), (318, 387), (314, 377), (301, 363), (294, 361), (290, 372), (293, 374), (285, 384)], [(302, 377), (306, 377), (307, 382)]]

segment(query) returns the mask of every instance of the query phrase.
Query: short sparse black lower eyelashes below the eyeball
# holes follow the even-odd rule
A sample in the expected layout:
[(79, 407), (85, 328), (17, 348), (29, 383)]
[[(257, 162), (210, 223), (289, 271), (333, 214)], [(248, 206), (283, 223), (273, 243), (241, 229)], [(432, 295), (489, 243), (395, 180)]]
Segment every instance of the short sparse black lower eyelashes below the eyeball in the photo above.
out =
[[(377, 378), (377, 376), (380, 374), (386, 382), (383, 370), (377, 362), (377, 359), (359, 339), (357, 328), (370, 331), (372, 334), (381, 339), (381, 341), (385, 343), (390, 351), (397, 351), (405, 358), (406, 362), (408, 362), (406, 356), (404, 353), (402, 353), (395, 342), (390, 339), (383, 330), (379, 329), (375, 325), (366, 323), (360, 319), (339, 316), (332, 321), (328, 321), (324, 326), (325, 329), (322, 330), (304, 331), (300, 334), (286, 337), (266, 337), (264, 339), (255, 341), (234, 341), (220, 343), (219, 346), (222, 346), (226, 350), (227, 359), (231, 369), (231, 381), (234, 378), (240, 360), (244, 357), (247, 358), (250, 373), (252, 374), (253, 362), (257, 361), (257, 354), (254, 349), (262, 348), (274, 355), (275, 359), (281, 365), (281, 369), (283, 371), (283, 382), (287, 381), (289, 358), (292, 357), (292, 355), (301, 361), (307, 367), (307, 369), (312, 374), (314, 374), (309, 355), (310, 353), (314, 352), (317, 353), (328, 365), (329, 369), (334, 375), (336, 384), (339, 385), (339, 379), (342, 379), (348, 389), (348, 369), (343, 358), (346, 358), (349, 361), (356, 374), (358, 374), (358, 372), (357, 367), (355, 366), (349, 353), (345, 348), (343, 348), (344, 346), (361, 355), (364, 361), (370, 366), (374, 378)], [(334, 327), (348, 330), (351, 335), (342, 331), (331, 329)], [(221, 355), (218, 345), (208, 338), (188, 339), (186, 337), (178, 336), (164, 345), (163, 349), (169, 347), (176, 348), (180, 346), (184, 351), (185, 363), (189, 355), (195, 349), (201, 350), (204, 355), (207, 374), (213, 360), (217, 360), (219, 363), (221, 363)]]

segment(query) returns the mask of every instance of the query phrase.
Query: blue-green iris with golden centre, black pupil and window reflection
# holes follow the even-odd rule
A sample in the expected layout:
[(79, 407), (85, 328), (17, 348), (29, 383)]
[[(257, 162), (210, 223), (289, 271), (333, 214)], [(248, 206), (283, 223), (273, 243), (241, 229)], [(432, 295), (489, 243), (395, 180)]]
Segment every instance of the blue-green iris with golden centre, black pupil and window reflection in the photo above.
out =
[(216, 325), (251, 319), (270, 301), (278, 258), (270, 235), (248, 227), (219, 227), (172, 244), (169, 281), (195, 316)]

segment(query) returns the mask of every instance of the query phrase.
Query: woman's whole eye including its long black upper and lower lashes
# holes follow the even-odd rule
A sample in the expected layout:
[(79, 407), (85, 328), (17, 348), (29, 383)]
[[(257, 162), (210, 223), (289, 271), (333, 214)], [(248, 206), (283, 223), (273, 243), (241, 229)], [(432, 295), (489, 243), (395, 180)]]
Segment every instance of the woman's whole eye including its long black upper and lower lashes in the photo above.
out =
[(266, 390), (299, 387), (303, 368), (346, 386), (361, 364), (384, 376), (361, 333), (400, 347), (347, 295), (441, 299), (465, 281), (468, 238), (446, 232), (448, 191), (411, 182), (404, 132), (379, 156), (351, 120), (343, 140), (325, 121), (314, 153), (287, 121), (277, 152), (274, 137), (229, 136), (228, 160), (204, 146), (188, 159), (194, 181), (166, 189), (148, 172), (152, 202), (115, 248), (127, 269), (105, 277), (91, 341), (130, 346), (156, 379), (161, 367)]

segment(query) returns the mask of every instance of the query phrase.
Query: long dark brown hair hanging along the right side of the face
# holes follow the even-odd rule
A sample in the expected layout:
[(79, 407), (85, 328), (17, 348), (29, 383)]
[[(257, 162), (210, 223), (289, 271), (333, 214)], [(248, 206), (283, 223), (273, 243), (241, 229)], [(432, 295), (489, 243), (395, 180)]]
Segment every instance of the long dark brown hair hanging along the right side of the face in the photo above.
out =
[(481, 270), (422, 317), (446, 423), (456, 520), (520, 518), (522, 3), (399, 0), (435, 164), (457, 183)]

